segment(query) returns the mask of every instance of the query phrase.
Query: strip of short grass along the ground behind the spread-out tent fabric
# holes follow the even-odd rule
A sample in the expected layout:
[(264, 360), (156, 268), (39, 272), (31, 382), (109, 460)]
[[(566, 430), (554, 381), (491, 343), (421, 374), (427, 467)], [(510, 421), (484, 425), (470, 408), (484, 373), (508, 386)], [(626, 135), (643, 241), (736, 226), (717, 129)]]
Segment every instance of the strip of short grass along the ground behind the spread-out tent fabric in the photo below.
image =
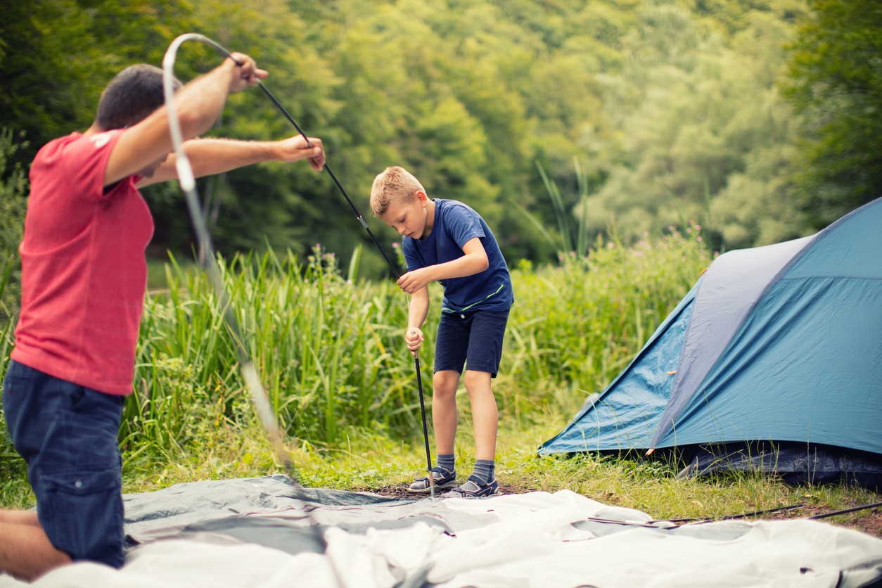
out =
[[(807, 517), (879, 501), (878, 495), (862, 488), (790, 486), (759, 473), (678, 480), (676, 467), (664, 462), (596, 455), (538, 458), (536, 448), (560, 428), (560, 422), (551, 416), (548, 422), (529, 428), (519, 426), (511, 417), (501, 422), (497, 480), (505, 492), (571, 490), (599, 502), (645, 511), (656, 519), (715, 519), (795, 504), (806, 508), (766, 518)], [(458, 464), (468, 470), (474, 444), (467, 422), (461, 425)], [(422, 439), (394, 441), (388, 435), (355, 429), (345, 436), (346, 442), (335, 448), (291, 441), (295, 475), (305, 486), (400, 495), (400, 489), (425, 469)], [(174, 458), (161, 468), (130, 464), (125, 491), (283, 472), (256, 422), (249, 430), (219, 432), (215, 443), (206, 443), (199, 452), (176, 450)], [(867, 517), (868, 511), (862, 511), (832, 522), (880, 534), (878, 528), (870, 527)]]

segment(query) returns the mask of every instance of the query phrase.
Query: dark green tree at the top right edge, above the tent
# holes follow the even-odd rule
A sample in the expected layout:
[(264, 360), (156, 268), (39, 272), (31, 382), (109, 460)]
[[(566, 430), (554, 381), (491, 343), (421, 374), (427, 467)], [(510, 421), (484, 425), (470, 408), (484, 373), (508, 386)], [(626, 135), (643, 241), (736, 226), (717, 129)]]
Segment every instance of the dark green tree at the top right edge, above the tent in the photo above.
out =
[(811, 0), (785, 92), (804, 115), (796, 183), (815, 227), (882, 195), (882, 4)]

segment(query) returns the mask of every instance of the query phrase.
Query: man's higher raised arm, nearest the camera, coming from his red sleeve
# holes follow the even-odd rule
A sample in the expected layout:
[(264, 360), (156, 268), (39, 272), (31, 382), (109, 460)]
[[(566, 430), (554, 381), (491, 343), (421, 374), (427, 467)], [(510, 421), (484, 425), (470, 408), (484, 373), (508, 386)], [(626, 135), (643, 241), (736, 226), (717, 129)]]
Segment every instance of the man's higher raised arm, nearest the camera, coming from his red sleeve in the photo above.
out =
[[(183, 138), (193, 138), (210, 129), (230, 93), (239, 92), (265, 78), (254, 60), (241, 53), (225, 59), (206, 75), (183, 86), (175, 95), (175, 108)], [(104, 170), (104, 185), (135, 175), (151, 164), (161, 161), (172, 150), (168, 130), (168, 110), (161, 107), (140, 123), (126, 129), (116, 140)]]

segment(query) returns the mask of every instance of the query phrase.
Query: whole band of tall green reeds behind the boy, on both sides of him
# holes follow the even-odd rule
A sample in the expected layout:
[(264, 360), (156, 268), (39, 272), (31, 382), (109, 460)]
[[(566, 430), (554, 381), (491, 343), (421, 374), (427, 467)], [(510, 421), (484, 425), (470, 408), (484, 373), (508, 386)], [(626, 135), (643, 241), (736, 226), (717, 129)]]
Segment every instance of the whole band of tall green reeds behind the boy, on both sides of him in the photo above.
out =
[[(588, 257), (516, 270), (497, 380), (503, 410), (527, 419), (572, 410), (609, 382), (709, 263), (698, 227), (688, 237), (633, 248), (598, 242)], [(320, 446), (339, 446), (352, 429), (419, 435), (415, 362), (402, 336), (407, 296), (389, 281), (356, 279), (355, 265), (344, 274), (337, 262), (317, 246), (305, 263), (267, 252), (224, 264), (233, 313), (273, 410), (289, 435)], [(253, 418), (210, 281), (172, 264), (168, 284), (146, 302), (121, 433), (132, 449), (204, 443), (210, 423)], [(441, 288), (432, 294), (437, 309)], [(427, 396), (436, 320), (427, 321), (422, 350)]]

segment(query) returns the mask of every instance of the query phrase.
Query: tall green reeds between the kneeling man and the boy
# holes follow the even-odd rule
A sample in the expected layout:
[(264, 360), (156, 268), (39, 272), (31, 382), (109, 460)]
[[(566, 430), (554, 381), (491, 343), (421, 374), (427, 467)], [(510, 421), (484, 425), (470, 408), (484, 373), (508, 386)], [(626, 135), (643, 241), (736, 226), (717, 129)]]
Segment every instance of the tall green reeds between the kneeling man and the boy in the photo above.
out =
[[(415, 374), (400, 337), (407, 300), (397, 287), (343, 278), (333, 253), (318, 245), (305, 264), (269, 251), (221, 262), (221, 271), (246, 349), (289, 435), (333, 444), (347, 427), (399, 435), (415, 427)], [(172, 260), (168, 290), (147, 297), (139, 341), (126, 415), (134, 425), (123, 437), (180, 441), (194, 419), (218, 406), (227, 419), (242, 416), (235, 347), (202, 272)]]

